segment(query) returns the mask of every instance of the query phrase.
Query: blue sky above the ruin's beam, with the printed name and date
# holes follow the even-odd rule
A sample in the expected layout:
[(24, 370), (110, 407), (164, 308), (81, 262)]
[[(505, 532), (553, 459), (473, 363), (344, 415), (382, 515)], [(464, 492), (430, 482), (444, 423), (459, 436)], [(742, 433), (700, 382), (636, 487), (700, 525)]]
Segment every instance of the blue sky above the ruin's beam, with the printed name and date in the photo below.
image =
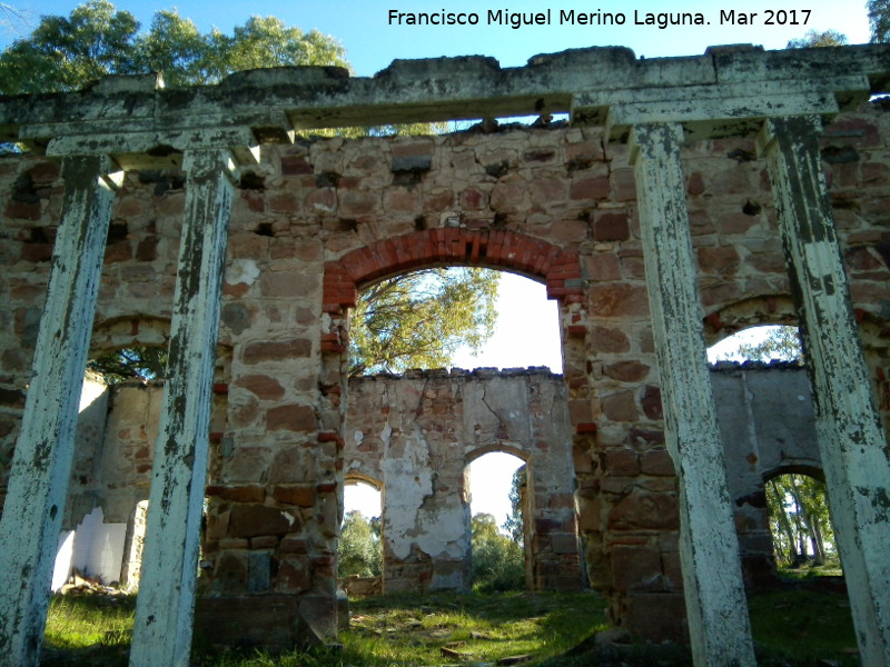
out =
[[(79, 2), (70, 0), (9, 0), (9, 3), (23, 10), (29, 26), (20, 32), (9, 30), (0, 33), (0, 47), (17, 37), (26, 36), (29, 28), (37, 24), (41, 14), (67, 16)], [(347, 57), (358, 76), (372, 76), (386, 68), (396, 58), (436, 58), (441, 56), (492, 56), (502, 67), (518, 67), (537, 53), (551, 53), (565, 49), (592, 46), (630, 47), (637, 57), (694, 56), (704, 52), (711, 44), (755, 43), (767, 49), (781, 49), (789, 39), (802, 37), (809, 29), (818, 31), (833, 29), (843, 32), (850, 43), (868, 41), (869, 27), (864, 0), (851, 3), (838, 0), (808, 0), (794, 2), (773, 0), (771, 2), (746, 2), (743, 6), (726, 1), (705, 2), (700, 0), (678, 0), (670, 3), (670, 11), (701, 12), (710, 24), (680, 26), (659, 29), (655, 26), (635, 24), (634, 14), (641, 19), (646, 12), (664, 12), (664, 2), (631, 0), (619, 2), (577, 2), (564, 0), (556, 3), (542, 3), (532, 0), (515, 2), (472, 2), (466, 0), (390, 0), (380, 3), (374, 0), (333, 0), (328, 2), (290, 0), (171, 0), (147, 3), (135, 0), (118, 0), (118, 9), (127, 10), (147, 27), (156, 10), (178, 8), (180, 16), (190, 18), (198, 28), (207, 31), (217, 27), (231, 32), (236, 24), (244, 23), (250, 14), (276, 16), (290, 26), (304, 30), (318, 29), (340, 40), (347, 49)], [(721, 10), (735, 10), (736, 23), (739, 7), (753, 12), (750, 24), (720, 24)], [(551, 10), (550, 26), (522, 27), (514, 30), (510, 26), (486, 24), (488, 10), (510, 12), (542, 12)], [(475, 12), (479, 16), (477, 26), (398, 26), (390, 24), (389, 11), (399, 12)], [(568, 26), (560, 24), (560, 12), (611, 12), (625, 16), (624, 26)], [(799, 24), (788, 24), (792, 18), (785, 14), (787, 24), (765, 24), (768, 11), (797, 11)], [(810, 10), (807, 24), (803, 10)], [(774, 21), (777, 22), (777, 21)]]

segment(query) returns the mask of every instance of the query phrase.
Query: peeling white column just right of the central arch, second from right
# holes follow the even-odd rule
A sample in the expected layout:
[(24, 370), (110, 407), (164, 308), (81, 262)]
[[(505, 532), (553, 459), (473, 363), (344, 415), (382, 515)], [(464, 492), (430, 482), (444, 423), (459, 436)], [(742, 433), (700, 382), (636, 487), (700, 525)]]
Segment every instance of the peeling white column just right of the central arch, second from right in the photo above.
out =
[(699, 667), (753, 667), (754, 653), (702, 329), (680, 163), (680, 125), (631, 135), (668, 449), (680, 477), (680, 556)]

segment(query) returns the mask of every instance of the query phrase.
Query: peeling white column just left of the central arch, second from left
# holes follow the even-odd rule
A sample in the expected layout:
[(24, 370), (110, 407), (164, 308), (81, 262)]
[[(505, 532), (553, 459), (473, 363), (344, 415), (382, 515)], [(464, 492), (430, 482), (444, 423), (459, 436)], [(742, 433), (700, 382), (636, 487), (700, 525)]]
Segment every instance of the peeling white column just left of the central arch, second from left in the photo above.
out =
[(226, 150), (187, 152), (164, 411), (155, 446), (130, 665), (188, 665), (207, 475), (222, 265), (231, 208)]

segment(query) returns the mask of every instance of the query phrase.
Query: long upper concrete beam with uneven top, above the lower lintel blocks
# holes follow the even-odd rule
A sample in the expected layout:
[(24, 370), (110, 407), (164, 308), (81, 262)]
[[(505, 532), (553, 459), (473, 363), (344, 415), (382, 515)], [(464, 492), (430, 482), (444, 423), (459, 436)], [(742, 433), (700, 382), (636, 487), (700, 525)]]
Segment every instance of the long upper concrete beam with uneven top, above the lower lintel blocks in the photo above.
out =
[[(715, 51), (693, 58), (635, 60), (626, 49), (583, 49), (536, 57), (522, 68), (501, 68), (485, 58), (443, 58), (397, 61), (373, 78), (350, 78), (338, 68), (275, 68), (235, 74), (218, 86), (179, 90), (126, 92), (112, 87), (107, 94), (0, 98), (0, 128), (7, 139), (16, 140), (20, 126), (61, 123), (44, 126), (50, 133), (34, 137), (36, 143), (67, 133), (90, 133), (97, 122), (106, 123), (103, 131), (109, 127), (120, 131), (246, 125), (283, 139), (281, 132), (291, 129), (279, 125), (283, 112), (295, 127), (312, 129), (532, 115), (542, 104), (565, 111), (578, 90), (683, 89), (772, 80), (793, 84), (800, 79), (822, 90), (820, 80), (859, 76), (869, 80), (873, 91), (890, 79), (887, 44), (792, 51), (799, 52)], [(67, 131), (62, 126), (68, 126)]]

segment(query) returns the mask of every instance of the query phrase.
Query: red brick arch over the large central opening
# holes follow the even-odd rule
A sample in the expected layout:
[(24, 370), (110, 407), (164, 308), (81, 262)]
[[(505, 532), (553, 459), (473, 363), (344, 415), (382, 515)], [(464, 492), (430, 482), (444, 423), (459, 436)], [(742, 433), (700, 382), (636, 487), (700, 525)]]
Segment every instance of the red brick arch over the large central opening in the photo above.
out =
[(326, 262), (324, 311), (354, 307), (369, 282), (434, 266), (504, 269), (543, 281), (548, 299), (583, 299), (577, 252), (513, 231), (447, 227), (380, 239)]

